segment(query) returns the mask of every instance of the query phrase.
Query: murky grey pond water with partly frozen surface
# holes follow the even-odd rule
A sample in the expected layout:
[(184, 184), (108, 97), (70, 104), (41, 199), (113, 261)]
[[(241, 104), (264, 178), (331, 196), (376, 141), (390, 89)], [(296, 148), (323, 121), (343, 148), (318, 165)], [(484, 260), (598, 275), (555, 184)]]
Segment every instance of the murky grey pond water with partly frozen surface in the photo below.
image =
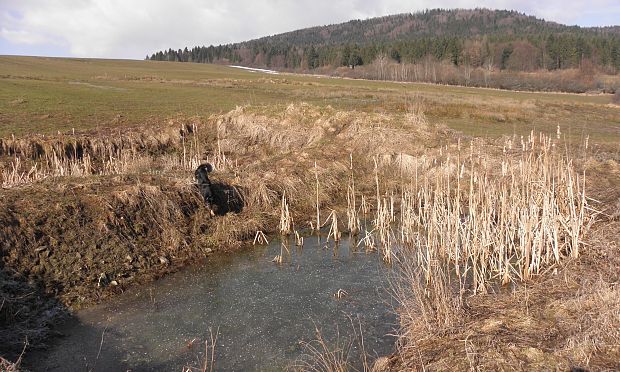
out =
[[(341, 343), (361, 324), (371, 356), (388, 355), (396, 316), (386, 266), (375, 254), (337, 249), (307, 237), (285, 262), (271, 262), (280, 242), (215, 257), (201, 267), (128, 291), (76, 315), (65, 337), (34, 370), (178, 370), (200, 367), (205, 340), (217, 334), (215, 370), (281, 370), (304, 353), (300, 341)], [(340, 290), (348, 295), (337, 298)], [(102, 342), (103, 340), (103, 342)], [(188, 342), (193, 345), (188, 347)], [(359, 359), (359, 342), (352, 359)]]

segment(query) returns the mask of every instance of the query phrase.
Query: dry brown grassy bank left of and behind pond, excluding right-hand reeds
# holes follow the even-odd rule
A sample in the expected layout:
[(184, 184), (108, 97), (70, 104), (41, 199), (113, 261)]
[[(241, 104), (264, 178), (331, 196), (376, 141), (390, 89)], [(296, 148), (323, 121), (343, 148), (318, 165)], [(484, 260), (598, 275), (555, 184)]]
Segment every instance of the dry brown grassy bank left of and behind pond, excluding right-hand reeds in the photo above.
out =
[[(284, 233), (309, 226), (317, 202), (337, 210), (332, 221), (340, 227), (335, 215), (346, 208), (351, 156), (362, 159), (356, 190), (372, 190), (374, 180), (360, 176), (372, 164), (367, 154), (419, 153), (436, 146), (438, 130), (444, 131), (413, 116), (302, 104), (276, 117), (239, 108), (143, 131), (5, 138), (3, 271), (81, 307), (238, 247), (257, 231), (276, 232), (284, 195), (290, 206)], [(216, 169), (220, 210), (213, 218), (193, 185), (200, 161)], [(9, 317), (14, 309), (1, 311)], [(3, 326), (10, 332), (15, 324)]]

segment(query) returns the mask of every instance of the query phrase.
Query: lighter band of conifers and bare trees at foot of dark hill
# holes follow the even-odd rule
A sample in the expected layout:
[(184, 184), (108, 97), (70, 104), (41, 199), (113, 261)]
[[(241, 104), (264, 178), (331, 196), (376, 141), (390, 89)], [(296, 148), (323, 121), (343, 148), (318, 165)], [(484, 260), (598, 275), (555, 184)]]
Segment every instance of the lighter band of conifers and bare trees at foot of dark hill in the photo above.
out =
[(500, 70), (579, 68), (585, 62), (615, 73), (620, 70), (620, 37), (574, 34), (518, 37), (433, 37), (367, 45), (272, 45), (269, 42), (194, 47), (160, 51), (147, 59), (171, 62), (240, 63), (248, 66), (315, 69), (323, 66), (370, 64), (387, 56), (397, 63), (417, 63), (426, 58), (455, 66), (489, 66)]

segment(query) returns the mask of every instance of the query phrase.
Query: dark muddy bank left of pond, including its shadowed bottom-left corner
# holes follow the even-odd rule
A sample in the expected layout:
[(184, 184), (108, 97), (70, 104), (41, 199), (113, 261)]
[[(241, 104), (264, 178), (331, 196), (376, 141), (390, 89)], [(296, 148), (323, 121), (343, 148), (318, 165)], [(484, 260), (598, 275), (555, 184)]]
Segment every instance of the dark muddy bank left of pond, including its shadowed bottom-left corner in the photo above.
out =
[[(2, 191), (0, 355), (11, 361), (26, 344), (27, 351), (44, 348), (67, 309), (235, 249), (264, 223), (234, 213), (212, 217), (194, 185), (179, 180), (57, 181)], [(229, 189), (214, 184), (221, 213), (240, 203)]]

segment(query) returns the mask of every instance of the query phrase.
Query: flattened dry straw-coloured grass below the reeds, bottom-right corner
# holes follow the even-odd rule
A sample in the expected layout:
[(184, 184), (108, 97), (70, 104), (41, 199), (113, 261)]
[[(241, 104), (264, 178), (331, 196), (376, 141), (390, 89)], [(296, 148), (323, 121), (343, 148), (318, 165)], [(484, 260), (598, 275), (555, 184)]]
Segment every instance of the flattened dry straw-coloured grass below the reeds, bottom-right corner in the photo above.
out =
[(410, 333), (392, 370), (617, 370), (618, 227), (598, 226), (588, 255), (549, 275), (464, 297), (450, 326), (429, 332), (415, 314), (406, 318)]

